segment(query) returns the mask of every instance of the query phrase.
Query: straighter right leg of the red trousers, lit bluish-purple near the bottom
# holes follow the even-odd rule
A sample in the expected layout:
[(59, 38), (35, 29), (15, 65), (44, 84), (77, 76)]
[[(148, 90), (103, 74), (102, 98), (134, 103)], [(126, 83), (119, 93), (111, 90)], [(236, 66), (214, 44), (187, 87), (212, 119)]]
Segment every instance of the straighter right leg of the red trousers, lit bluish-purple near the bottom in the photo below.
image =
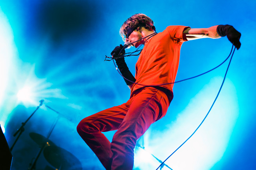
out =
[(166, 114), (168, 106), (165, 93), (153, 87), (146, 87), (131, 98), (129, 110), (111, 142), (111, 170), (132, 170), (137, 139)]

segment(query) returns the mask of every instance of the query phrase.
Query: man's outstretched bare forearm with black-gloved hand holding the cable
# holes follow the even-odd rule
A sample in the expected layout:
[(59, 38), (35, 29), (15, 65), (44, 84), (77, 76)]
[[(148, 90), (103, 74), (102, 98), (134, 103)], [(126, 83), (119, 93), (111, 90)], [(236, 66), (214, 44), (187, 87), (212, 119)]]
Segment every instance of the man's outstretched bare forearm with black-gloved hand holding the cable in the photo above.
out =
[(187, 40), (195, 40), (199, 38), (220, 38), (227, 36), (229, 41), (234, 44), (237, 49), (241, 46), (239, 41), (241, 33), (230, 25), (218, 25), (209, 28), (187, 28), (183, 33)]

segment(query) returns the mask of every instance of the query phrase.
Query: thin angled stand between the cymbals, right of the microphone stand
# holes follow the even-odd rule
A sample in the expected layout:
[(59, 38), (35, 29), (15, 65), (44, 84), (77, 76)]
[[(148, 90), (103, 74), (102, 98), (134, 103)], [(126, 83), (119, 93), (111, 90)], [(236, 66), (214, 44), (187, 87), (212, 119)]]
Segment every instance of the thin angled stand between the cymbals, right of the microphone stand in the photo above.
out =
[[(49, 109), (53, 110), (52, 108), (50, 108), (49, 106), (45, 105), (46, 107), (48, 107)], [(56, 110), (53, 110), (54, 112), (56, 112), (58, 114), (58, 117), (56, 118), (56, 120), (54, 121), (54, 123), (52, 124), (52, 127), (50, 128), (49, 132), (48, 132), (48, 135), (47, 135), (47, 138), (46, 138), (46, 141), (45, 141), (45, 145), (43, 147), (41, 147), (40, 151), (37, 153), (37, 156), (34, 160), (34, 162), (32, 164), (30, 164), (30, 166), (28, 167), (28, 170), (33, 170), (35, 169), (35, 166), (36, 166), (36, 161), (38, 160), (39, 156), (41, 155), (42, 151), (44, 150), (45, 147), (49, 146), (48, 144), (48, 139), (50, 137), (50, 135), (52, 134), (52, 131), (53, 129), (55, 128), (59, 118), (61, 117), (59, 112), (56, 111)]]

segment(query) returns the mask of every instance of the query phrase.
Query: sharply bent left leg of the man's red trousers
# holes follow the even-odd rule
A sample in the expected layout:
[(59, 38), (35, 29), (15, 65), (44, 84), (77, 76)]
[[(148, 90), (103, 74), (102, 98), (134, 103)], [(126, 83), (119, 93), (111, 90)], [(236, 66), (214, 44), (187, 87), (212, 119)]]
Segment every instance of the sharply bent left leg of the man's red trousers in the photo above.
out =
[(111, 170), (113, 154), (110, 141), (101, 132), (118, 129), (128, 109), (129, 101), (88, 116), (77, 126), (79, 135), (96, 154), (106, 170)]

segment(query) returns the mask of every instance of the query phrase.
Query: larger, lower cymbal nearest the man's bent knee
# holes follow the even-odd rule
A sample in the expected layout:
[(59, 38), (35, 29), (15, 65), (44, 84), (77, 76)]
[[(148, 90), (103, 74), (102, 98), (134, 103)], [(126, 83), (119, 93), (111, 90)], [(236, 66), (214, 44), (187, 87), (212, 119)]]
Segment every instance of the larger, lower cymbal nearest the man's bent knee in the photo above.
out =
[(82, 170), (81, 162), (69, 151), (57, 147), (44, 148), (44, 157), (53, 167), (60, 170)]

